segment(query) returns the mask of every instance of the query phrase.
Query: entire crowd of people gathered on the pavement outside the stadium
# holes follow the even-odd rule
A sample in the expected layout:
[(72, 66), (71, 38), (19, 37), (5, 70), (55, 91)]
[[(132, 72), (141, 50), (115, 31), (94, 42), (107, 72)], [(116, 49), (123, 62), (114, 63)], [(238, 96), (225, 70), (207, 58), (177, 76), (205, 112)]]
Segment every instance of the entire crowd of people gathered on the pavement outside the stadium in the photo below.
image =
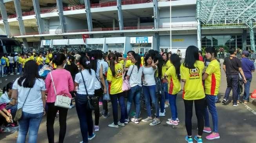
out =
[[(229, 52), (231, 55), (226, 57), (223, 63), (227, 75), (227, 90), (222, 102), (228, 103), (232, 89), (233, 106), (237, 106), (240, 100), (247, 104), (254, 64), (247, 58), (248, 51), (243, 51), (241, 61), (236, 58), (236, 50), (232, 49)], [(45, 114), (48, 141), (54, 143), (53, 125), (58, 114), (58, 142), (63, 143), (67, 111), (75, 106), (82, 134), (80, 143), (87, 143), (96, 136), (94, 131), (100, 130), (100, 116), (109, 118), (108, 101), (111, 101), (113, 114), (113, 123), (108, 127), (124, 127), (130, 121), (140, 123), (141, 107), (145, 107), (147, 111), (147, 116), (143, 116), (141, 122), (148, 122), (151, 126), (158, 125), (161, 123), (161, 117), (165, 116), (165, 108), (169, 106), (171, 118), (166, 123), (179, 125), (176, 99), (182, 89), (181, 82), (184, 82), (182, 98), (185, 106), (183, 120), (187, 130), (185, 140), (193, 143), (193, 104), (198, 123), (198, 134), (194, 136), (194, 140), (202, 143), (203, 132), (211, 133), (206, 139), (218, 139), (220, 134), (215, 104), (219, 102), (217, 95), (221, 67), (216, 59), (217, 51), (214, 47), (205, 48), (205, 60), (202, 54), (196, 46), (189, 46), (183, 63), (179, 52), (159, 53), (156, 50), (149, 50), (144, 55), (129, 51), (127, 58), (118, 52), (103, 53), (100, 50), (92, 50), (73, 53), (68, 52), (66, 48), (60, 53), (52, 53), (49, 50), (44, 56), (36, 54), (35, 51), (28, 54), (15, 53), (15, 56), (10, 54), (8, 58), (7, 55), (3, 55), (2, 76), (15, 73), (14, 69), (17, 67), (16, 74), (20, 74), (21, 77), (14, 83), (8, 83), (3, 89), (3, 95), (0, 97), (0, 114), (6, 124), (18, 124), (17, 143), (25, 143), (28, 131), (28, 142), (36, 143), (40, 122)], [(243, 99), (239, 99), (242, 84), (245, 90)], [(57, 105), (60, 96), (74, 99), (75, 105), (72, 101), (69, 107)], [(131, 116), (133, 102), (135, 115)], [(99, 104), (103, 105), (102, 112)], [(22, 109), (22, 117), (15, 122), (13, 117), (17, 109)], [(212, 129), (209, 112), (212, 116)]]

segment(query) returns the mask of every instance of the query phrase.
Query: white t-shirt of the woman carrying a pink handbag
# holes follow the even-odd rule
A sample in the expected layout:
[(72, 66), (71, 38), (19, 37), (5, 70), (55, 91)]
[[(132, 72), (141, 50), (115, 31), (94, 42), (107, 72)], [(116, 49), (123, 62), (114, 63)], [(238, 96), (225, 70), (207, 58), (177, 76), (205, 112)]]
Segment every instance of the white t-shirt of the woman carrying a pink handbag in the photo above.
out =
[(137, 66), (135, 66), (135, 65), (129, 66), (127, 75), (130, 76), (129, 83), (130, 83), (131, 87), (134, 87), (136, 85), (142, 86), (142, 67), (140, 67), (140, 69), (138, 71)]

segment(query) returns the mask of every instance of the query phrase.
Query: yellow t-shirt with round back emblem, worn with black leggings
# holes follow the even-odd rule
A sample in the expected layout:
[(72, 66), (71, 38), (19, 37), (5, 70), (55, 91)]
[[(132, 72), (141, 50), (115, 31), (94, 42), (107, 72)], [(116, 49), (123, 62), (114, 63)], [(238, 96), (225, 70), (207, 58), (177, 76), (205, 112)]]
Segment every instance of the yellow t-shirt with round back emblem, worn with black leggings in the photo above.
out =
[(180, 66), (181, 79), (185, 79), (182, 98), (185, 100), (198, 100), (205, 97), (202, 81), (202, 71), (204, 64), (202, 61), (194, 63), (195, 68), (189, 69)]

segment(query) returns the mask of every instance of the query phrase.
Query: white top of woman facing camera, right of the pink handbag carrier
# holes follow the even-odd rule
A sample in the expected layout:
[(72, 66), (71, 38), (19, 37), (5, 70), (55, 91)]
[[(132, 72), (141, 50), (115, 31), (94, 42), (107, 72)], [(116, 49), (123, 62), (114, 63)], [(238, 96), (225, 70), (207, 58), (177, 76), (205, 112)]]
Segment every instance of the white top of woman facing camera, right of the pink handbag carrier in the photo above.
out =
[(144, 74), (144, 81), (147, 83), (147, 84), (143, 84), (143, 86), (156, 85), (156, 82), (154, 79), (154, 73), (155, 73), (156, 69), (154, 69), (152, 67), (146, 68), (145, 66), (142, 66), (142, 70), (143, 70), (143, 74)]

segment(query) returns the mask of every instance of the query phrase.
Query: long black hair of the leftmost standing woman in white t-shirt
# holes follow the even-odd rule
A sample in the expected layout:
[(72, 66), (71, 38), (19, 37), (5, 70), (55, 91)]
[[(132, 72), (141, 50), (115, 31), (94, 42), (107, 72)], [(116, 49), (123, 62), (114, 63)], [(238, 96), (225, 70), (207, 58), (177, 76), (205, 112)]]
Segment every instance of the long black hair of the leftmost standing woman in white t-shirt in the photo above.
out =
[(24, 88), (33, 88), (36, 79), (39, 78), (36, 62), (34, 60), (29, 60), (24, 65), (24, 73), (23, 76), (18, 79), (18, 85), (23, 86)]

